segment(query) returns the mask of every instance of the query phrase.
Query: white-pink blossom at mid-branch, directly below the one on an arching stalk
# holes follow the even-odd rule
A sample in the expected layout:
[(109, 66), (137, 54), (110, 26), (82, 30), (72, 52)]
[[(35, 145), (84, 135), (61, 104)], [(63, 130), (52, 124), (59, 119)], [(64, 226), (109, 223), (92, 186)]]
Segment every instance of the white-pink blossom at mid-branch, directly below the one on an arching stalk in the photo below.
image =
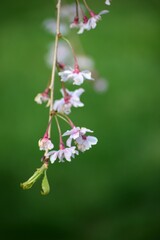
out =
[(61, 93), (63, 98), (60, 100), (56, 100), (53, 106), (53, 109), (60, 113), (70, 114), (71, 107), (83, 107), (84, 104), (80, 101), (80, 95), (84, 92), (83, 88), (77, 89), (73, 92), (65, 89), (64, 91), (61, 89)]

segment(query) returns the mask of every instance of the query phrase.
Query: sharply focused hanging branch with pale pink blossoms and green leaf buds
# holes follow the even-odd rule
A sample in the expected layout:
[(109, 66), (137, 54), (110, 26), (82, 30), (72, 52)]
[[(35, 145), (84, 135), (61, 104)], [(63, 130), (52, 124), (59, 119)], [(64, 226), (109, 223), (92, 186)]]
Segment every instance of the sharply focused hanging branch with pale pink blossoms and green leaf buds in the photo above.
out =
[[(85, 33), (85, 31), (95, 29), (98, 21), (101, 20), (101, 15), (108, 13), (108, 10), (103, 10), (99, 14), (96, 14), (89, 7), (86, 0), (82, 1), (83, 4), (80, 3), (79, 0), (75, 0), (75, 4), (72, 5), (72, 9), (70, 9), (72, 10), (72, 14), (69, 14), (69, 11), (63, 7), (62, 2), (63, 1), (61, 0), (57, 0), (57, 19), (55, 24), (51, 21), (45, 22), (46, 28), (55, 34), (52, 56), (52, 74), (51, 80), (45, 90), (42, 93), (38, 93), (35, 97), (35, 101), (38, 104), (46, 103), (46, 106), (49, 108), (49, 120), (46, 130), (43, 137), (38, 141), (40, 151), (44, 151), (42, 157), (43, 164), (41, 168), (36, 170), (31, 178), (21, 184), (23, 189), (29, 189), (37, 179), (43, 175), (42, 194), (44, 195), (48, 194), (50, 191), (46, 174), (49, 163), (54, 163), (56, 160), (59, 162), (70, 162), (72, 158), (75, 158), (76, 155), (79, 154), (79, 152), (89, 150), (98, 142), (97, 138), (92, 135), (92, 130), (80, 127), (76, 123), (73, 123), (69, 116), (72, 108), (84, 106), (84, 103), (81, 102), (80, 98), (85, 90), (82, 87), (77, 88), (77, 86), (81, 86), (84, 81), (93, 82), (95, 81), (95, 78), (90, 70), (81, 69), (75, 48), (71, 40), (66, 37), (66, 21), (65, 26), (63, 24), (61, 25), (61, 18), (62, 16), (65, 17), (66, 14), (71, 17), (74, 14), (72, 23), (68, 22), (68, 28), (76, 28), (78, 29), (78, 34), (82, 34)], [(110, 5), (110, 1), (106, 0), (105, 4)], [(68, 62), (65, 62), (67, 61), (67, 58), (63, 61), (59, 55), (59, 46), (61, 42), (64, 42), (67, 46), (67, 51), (71, 52), (72, 66), (69, 66)], [(57, 91), (57, 89), (55, 89), (55, 80), (61, 83), (61, 89), (59, 90), (62, 97), (60, 99), (55, 99), (55, 92)], [(75, 86), (75, 90), (69, 90), (68, 86), (66, 87), (67, 84)], [(59, 134), (58, 148), (55, 147), (56, 140), (51, 136), (53, 119), (55, 119)], [(65, 121), (68, 125), (65, 132), (62, 132), (60, 124), (61, 120)]]

